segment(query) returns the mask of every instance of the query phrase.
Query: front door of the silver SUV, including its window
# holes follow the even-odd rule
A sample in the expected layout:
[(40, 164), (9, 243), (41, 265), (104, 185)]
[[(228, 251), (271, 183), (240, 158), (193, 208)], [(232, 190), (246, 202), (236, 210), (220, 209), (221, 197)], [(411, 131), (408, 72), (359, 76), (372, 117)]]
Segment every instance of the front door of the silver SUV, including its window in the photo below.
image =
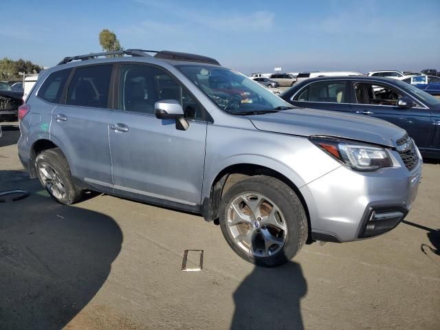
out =
[[(118, 109), (109, 125), (115, 194), (197, 206), (205, 162), (204, 109), (157, 67), (121, 65), (118, 85)], [(181, 102), (186, 131), (176, 129), (175, 120), (155, 117), (158, 100)]]

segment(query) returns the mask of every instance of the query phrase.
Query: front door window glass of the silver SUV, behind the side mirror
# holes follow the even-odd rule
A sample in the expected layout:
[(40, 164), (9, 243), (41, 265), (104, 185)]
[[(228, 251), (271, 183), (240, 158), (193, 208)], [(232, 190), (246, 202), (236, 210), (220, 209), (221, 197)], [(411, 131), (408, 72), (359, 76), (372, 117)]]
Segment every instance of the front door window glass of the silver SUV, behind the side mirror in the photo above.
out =
[(153, 115), (154, 104), (159, 100), (177, 100), (185, 118), (204, 120), (203, 108), (164, 70), (148, 65), (122, 65), (118, 109)]

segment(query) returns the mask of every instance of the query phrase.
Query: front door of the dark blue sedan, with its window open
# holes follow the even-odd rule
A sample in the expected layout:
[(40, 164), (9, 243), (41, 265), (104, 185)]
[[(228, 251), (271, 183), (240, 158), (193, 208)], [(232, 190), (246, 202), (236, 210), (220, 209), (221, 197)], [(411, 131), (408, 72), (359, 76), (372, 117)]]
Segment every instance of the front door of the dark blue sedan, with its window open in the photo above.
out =
[(401, 89), (386, 83), (354, 81), (352, 108), (359, 115), (371, 115), (400, 126), (419, 148), (427, 148), (432, 129), (430, 110), (419, 103), (410, 109), (397, 107), (397, 101), (402, 96), (413, 99)]

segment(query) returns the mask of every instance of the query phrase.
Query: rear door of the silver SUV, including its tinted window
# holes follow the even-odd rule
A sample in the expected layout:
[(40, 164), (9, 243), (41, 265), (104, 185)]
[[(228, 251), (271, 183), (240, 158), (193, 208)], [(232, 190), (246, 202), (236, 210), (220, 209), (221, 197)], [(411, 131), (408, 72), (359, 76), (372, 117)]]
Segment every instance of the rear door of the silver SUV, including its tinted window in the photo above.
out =
[(100, 190), (111, 189), (109, 97), (113, 65), (77, 67), (52, 111), (51, 134), (59, 140), (72, 175)]

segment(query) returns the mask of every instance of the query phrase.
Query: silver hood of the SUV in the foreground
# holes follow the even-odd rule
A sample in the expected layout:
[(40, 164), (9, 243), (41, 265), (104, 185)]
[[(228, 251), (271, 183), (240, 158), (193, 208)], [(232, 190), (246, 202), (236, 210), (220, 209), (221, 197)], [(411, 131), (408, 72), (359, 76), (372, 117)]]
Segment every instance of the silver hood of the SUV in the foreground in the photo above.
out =
[(264, 115), (249, 115), (261, 131), (309, 137), (327, 135), (350, 140), (395, 146), (405, 130), (377, 118), (336, 111), (302, 109), (283, 110)]

